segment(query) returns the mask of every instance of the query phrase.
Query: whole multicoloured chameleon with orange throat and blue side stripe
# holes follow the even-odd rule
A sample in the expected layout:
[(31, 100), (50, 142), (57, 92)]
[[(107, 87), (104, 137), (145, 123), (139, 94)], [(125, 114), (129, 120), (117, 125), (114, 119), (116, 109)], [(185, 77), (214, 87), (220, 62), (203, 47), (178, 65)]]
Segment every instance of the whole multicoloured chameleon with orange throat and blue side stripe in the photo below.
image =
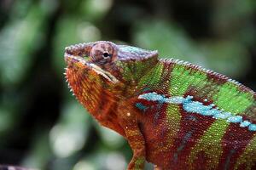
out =
[(68, 46), (64, 59), (79, 103), (131, 146), (127, 169), (256, 169), (256, 94), (240, 82), (108, 41)]

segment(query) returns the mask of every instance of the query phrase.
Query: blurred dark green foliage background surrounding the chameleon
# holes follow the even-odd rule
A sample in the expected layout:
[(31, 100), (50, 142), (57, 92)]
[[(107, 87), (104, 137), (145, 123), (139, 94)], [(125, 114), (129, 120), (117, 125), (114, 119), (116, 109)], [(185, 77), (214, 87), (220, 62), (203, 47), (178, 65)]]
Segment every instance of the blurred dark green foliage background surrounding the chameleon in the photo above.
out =
[(125, 169), (128, 144), (84, 111), (62, 74), (66, 46), (97, 40), (158, 49), (256, 90), (255, 0), (1, 0), (0, 164)]

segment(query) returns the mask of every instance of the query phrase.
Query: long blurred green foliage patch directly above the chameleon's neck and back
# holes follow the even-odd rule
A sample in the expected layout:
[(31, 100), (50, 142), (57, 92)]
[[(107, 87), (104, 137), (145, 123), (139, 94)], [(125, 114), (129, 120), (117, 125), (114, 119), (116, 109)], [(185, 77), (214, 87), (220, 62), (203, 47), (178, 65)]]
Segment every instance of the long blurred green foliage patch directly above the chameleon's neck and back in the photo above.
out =
[(230, 77), (239, 77), (250, 67), (243, 44), (220, 40), (195, 42), (183, 29), (164, 21), (138, 23), (133, 39), (140, 47), (159, 50), (160, 57), (182, 59)]

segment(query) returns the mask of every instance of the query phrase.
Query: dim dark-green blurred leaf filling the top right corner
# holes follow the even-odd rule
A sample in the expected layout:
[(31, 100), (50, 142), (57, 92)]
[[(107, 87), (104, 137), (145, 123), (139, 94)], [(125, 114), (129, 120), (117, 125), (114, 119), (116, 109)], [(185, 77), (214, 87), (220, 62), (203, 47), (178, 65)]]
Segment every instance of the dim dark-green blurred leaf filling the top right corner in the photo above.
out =
[(256, 36), (252, 23), (255, 10), (254, 0), (217, 0), (212, 10), (212, 32), (220, 37), (252, 44), (255, 42), (252, 37)]

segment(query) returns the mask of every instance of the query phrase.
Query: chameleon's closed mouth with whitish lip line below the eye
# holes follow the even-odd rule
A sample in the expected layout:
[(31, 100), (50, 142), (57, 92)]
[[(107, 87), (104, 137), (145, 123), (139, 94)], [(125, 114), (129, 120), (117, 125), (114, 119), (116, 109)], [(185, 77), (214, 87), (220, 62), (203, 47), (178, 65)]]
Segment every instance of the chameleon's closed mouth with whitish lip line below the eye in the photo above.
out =
[(109, 82), (113, 82), (113, 83), (119, 82), (119, 80), (116, 77), (114, 77), (110, 72), (104, 71), (98, 65), (91, 63), (88, 60), (88, 57), (83, 58), (81, 56), (75, 56), (73, 54), (65, 53), (64, 59), (68, 66), (71, 66), (71, 65), (85, 66), (86, 68), (88, 68), (92, 71), (95, 71), (96, 74), (101, 75), (102, 77), (106, 78)]

